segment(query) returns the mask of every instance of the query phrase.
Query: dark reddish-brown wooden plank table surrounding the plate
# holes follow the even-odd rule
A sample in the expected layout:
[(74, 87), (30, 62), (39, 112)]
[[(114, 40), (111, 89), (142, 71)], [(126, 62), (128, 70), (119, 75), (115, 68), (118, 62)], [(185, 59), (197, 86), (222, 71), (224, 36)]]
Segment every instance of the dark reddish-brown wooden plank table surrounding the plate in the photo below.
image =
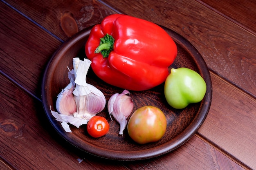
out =
[[(58, 136), (43, 110), (42, 75), (54, 51), (112, 13), (179, 33), (211, 73), (206, 120), (180, 148), (154, 159), (110, 161), (84, 154)], [(1, 0), (0, 57), (1, 170), (256, 169), (254, 0)]]

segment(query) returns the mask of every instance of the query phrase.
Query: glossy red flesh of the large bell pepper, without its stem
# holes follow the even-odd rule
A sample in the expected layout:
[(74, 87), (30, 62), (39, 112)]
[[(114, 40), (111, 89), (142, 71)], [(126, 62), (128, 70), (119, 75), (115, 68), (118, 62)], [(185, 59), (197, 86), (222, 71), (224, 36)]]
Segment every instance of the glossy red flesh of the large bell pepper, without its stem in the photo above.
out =
[[(108, 57), (94, 53), (100, 38), (115, 39)], [(163, 83), (176, 55), (173, 39), (157, 24), (128, 15), (114, 14), (95, 25), (85, 45), (94, 73), (108, 84), (143, 91)]]

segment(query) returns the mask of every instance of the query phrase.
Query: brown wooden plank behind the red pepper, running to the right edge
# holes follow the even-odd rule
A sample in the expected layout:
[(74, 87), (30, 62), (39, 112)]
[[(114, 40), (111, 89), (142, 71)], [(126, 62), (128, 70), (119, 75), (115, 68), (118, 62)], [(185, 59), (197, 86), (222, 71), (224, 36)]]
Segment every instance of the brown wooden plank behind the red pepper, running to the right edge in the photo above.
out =
[(237, 24), (195, 0), (102, 1), (121, 13), (176, 31), (198, 49), (209, 69), (256, 97), (256, 37)]

